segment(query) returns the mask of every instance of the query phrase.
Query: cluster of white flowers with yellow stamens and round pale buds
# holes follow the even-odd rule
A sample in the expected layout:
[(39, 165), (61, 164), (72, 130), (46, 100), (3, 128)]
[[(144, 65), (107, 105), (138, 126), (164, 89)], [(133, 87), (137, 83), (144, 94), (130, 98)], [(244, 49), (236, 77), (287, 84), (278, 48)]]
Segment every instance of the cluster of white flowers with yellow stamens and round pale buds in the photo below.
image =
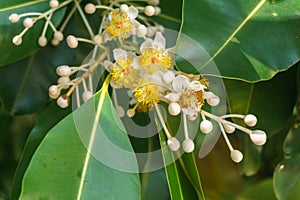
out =
[[(9, 17), (12, 23), (26, 17), (23, 21), (24, 30), (13, 38), (15, 45), (21, 45), (24, 34), (38, 20), (45, 19), (44, 29), (38, 39), (38, 44), (42, 47), (47, 45), (46, 31), (49, 26), (54, 32), (52, 44), (58, 45), (63, 41), (63, 30), (75, 11), (78, 10), (82, 17), (90, 38), (69, 35), (66, 42), (70, 48), (77, 48), (79, 42), (89, 43), (94, 46), (94, 50), (88, 62), (80, 66), (57, 67), (56, 73), (60, 78), (57, 84), (50, 86), (49, 96), (57, 99), (60, 107), (69, 106), (70, 95), (74, 91), (78, 107), (81, 105), (80, 99), (83, 102), (88, 101), (94, 94), (93, 72), (96, 68), (102, 67), (110, 73), (111, 86), (114, 89), (126, 88), (132, 94), (130, 108), (126, 112), (116, 102), (119, 116), (122, 117), (126, 113), (128, 117), (133, 117), (136, 112), (154, 110), (168, 138), (167, 145), (172, 151), (179, 150), (180, 146), (187, 153), (194, 151), (195, 145), (188, 133), (187, 120), (195, 121), (198, 116), (202, 119), (199, 127), (204, 134), (209, 134), (214, 129), (211, 120), (218, 124), (234, 162), (239, 163), (243, 159), (243, 154), (233, 148), (227, 134), (238, 129), (248, 134), (256, 145), (263, 145), (266, 142), (267, 136), (264, 131), (253, 131), (228, 120), (241, 118), (246, 126), (253, 127), (257, 123), (257, 118), (253, 114), (216, 116), (203, 110), (204, 104), (217, 106), (220, 98), (208, 90), (208, 82), (203, 76), (185, 74), (174, 69), (174, 52), (172, 48), (166, 48), (164, 29), (150, 19), (151, 16), (159, 15), (161, 12), (159, 0), (148, 0), (149, 5), (145, 7), (120, 4), (120, 1), (113, 1), (109, 5), (88, 3), (84, 9), (81, 8), (80, 2), (81, 0), (67, 0), (59, 3), (57, 0), (50, 0), (50, 9), (44, 13), (14, 13)], [(62, 23), (60, 30), (57, 30), (51, 22), (53, 13), (71, 3), (74, 4), (73, 9)], [(94, 14), (97, 9), (107, 14), (104, 15), (99, 31), (95, 34), (85, 15)], [(111, 50), (105, 46), (111, 41), (115, 41), (118, 47)], [(109, 51), (112, 51), (113, 58)], [(70, 78), (78, 72), (81, 72), (81, 76)], [(81, 84), (83, 92), (80, 98), (78, 86)], [(67, 92), (62, 94), (66, 90)], [(185, 136), (182, 144), (169, 132), (158, 106), (160, 102), (168, 104), (170, 115), (182, 115)]]

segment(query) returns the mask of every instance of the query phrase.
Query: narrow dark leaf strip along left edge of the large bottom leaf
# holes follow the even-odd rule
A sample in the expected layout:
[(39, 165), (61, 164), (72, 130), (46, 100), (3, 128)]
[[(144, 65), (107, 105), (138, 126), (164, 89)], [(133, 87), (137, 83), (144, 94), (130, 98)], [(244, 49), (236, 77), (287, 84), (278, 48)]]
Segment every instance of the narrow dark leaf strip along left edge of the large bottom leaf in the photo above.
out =
[(37, 150), (39, 144), (42, 142), (45, 135), (54, 127), (60, 120), (62, 120), (70, 109), (62, 109), (53, 102), (40, 116), (39, 121), (30, 132), (23, 149), (22, 158), (18, 164), (15, 172), (14, 184), (11, 193), (11, 199), (18, 199), (24, 173), (30, 163), (30, 160)]

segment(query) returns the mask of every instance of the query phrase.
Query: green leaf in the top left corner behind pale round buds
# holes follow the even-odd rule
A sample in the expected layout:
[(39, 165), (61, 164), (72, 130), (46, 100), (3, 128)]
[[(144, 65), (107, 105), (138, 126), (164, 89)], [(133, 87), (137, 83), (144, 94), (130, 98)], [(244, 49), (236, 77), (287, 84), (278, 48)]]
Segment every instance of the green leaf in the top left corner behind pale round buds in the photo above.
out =
[[(9, 16), (12, 13), (45, 12), (48, 9), (50, 7), (47, 0), (10, 0), (0, 2), (0, 66), (21, 60), (36, 52), (39, 49), (37, 41), (45, 23), (44, 19), (36, 22), (24, 35), (22, 44), (15, 46), (12, 43), (12, 39), (23, 31), (23, 18), (16, 24), (13, 24), (9, 21)], [(65, 9), (54, 13), (52, 21), (55, 26), (60, 23), (64, 13)], [(48, 33), (50, 32), (52, 31), (48, 31)]]

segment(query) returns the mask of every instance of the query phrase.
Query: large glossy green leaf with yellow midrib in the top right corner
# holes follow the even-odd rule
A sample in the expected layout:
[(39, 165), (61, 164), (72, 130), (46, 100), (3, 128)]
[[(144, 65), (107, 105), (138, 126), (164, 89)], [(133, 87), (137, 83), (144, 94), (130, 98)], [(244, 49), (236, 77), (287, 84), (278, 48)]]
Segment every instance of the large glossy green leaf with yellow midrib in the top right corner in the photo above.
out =
[(299, 60), (298, 0), (188, 0), (183, 9), (181, 33), (195, 44), (181, 57), (194, 59), (196, 69), (179, 60), (180, 70), (259, 81)]

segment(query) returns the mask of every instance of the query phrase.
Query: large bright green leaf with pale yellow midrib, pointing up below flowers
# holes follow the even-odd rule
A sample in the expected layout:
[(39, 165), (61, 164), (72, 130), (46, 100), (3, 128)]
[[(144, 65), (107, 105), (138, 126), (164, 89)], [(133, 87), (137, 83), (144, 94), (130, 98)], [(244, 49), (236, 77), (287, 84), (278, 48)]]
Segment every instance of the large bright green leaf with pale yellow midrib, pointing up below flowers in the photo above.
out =
[(139, 175), (132, 173), (136, 157), (108, 84), (47, 134), (25, 173), (20, 199), (140, 199)]

